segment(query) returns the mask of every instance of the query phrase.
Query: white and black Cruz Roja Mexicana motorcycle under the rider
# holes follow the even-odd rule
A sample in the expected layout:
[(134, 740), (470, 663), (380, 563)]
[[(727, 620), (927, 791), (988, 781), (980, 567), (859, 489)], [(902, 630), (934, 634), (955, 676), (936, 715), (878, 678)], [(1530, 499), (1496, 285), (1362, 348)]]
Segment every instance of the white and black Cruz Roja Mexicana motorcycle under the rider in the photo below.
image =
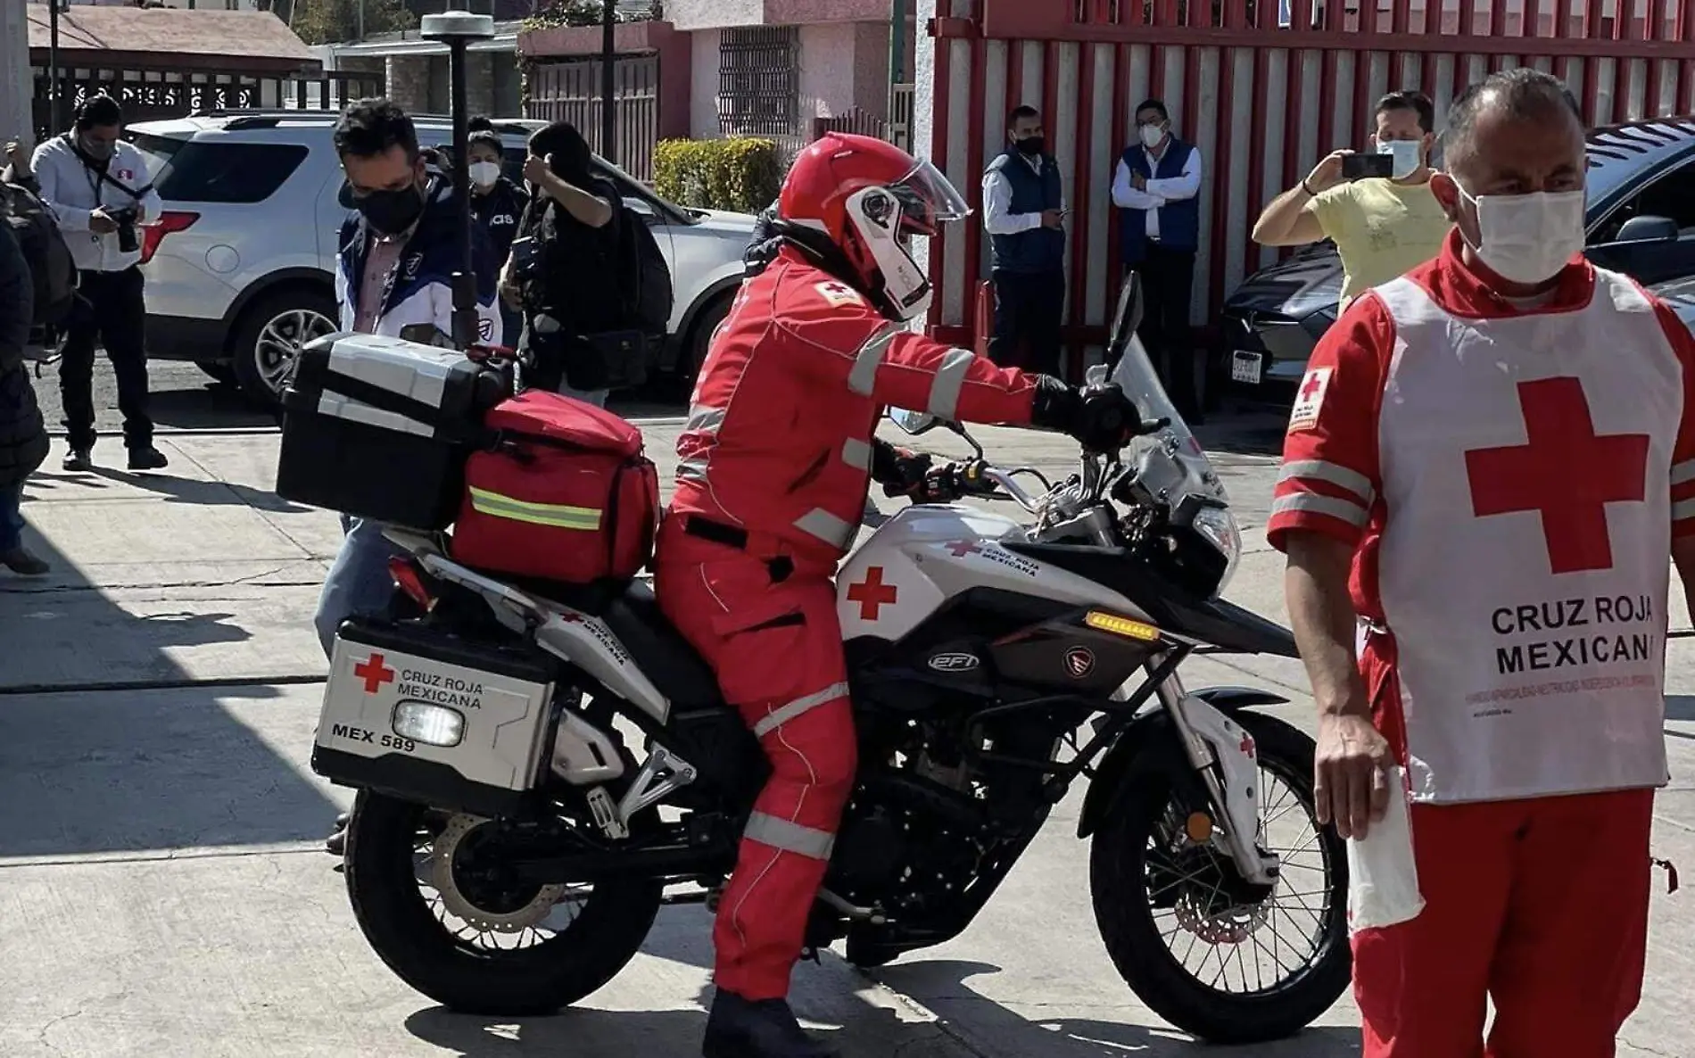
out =
[[(1297, 651), (1219, 597), (1236, 522), (1137, 317), (1132, 281), (1114, 381), (1148, 432), (1058, 485), (892, 412), (966, 437), (954, 490), (1027, 521), (915, 504), (842, 566), (859, 775), (807, 944), (870, 968), (958, 936), (1088, 780), (1076, 836), (1125, 983), (1200, 1039), (1268, 1041), (1348, 987), (1346, 855), (1315, 821), (1312, 741), (1248, 710), (1285, 699), (1178, 675), (1197, 651)], [(519, 583), (439, 537), (390, 539), (410, 615), (342, 626), (312, 758), (359, 788), (354, 916), (449, 1009), (556, 1012), (629, 963), (661, 905), (715, 905), (768, 765), (644, 583)]]

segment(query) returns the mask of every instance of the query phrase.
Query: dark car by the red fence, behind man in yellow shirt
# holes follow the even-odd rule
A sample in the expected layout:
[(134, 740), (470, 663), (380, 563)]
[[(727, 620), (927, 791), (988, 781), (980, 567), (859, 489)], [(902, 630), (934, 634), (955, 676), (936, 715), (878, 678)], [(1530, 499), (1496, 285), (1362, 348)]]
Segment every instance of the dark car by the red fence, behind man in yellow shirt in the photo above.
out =
[[(1648, 285), (1695, 276), (1695, 117), (1590, 131), (1585, 253)], [(1685, 292), (1695, 297), (1695, 285)], [(1248, 276), (1224, 302), (1234, 388), (1287, 398), (1319, 336), (1336, 322), (1341, 293), (1342, 263), (1331, 242)], [(1695, 319), (1695, 303), (1680, 312)]]

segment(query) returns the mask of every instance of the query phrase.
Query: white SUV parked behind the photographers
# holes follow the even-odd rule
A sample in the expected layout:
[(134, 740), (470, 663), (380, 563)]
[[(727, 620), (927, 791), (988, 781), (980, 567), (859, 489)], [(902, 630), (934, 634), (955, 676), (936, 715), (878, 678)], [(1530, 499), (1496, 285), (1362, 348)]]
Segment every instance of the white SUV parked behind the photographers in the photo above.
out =
[[(302, 342), (336, 329), (336, 236), (347, 215), (334, 112), (215, 110), (137, 122), (164, 200), (146, 226), (147, 356), (192, 359), (271, 404)], [(414, 115), (424, 146), (453, 142), (444, 115)], [(537, 120), (497, 120), (515, 176)], [(661, 373), (686, 381), (742, 278), (754, 219), (685, 209), (597, 158), (598, 175), (641, 214), (676, 292)]]

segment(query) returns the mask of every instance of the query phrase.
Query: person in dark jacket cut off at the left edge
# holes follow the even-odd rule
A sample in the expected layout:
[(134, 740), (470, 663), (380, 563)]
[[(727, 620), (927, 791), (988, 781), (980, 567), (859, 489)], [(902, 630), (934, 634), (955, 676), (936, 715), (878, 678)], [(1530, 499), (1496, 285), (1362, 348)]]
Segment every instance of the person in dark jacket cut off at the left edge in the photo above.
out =
[(47, 427), (24, 349), (36, 319), (36, 283), (12, 226), (0, 222), (0, 566), (41, 576), (47, 563), (24, 546), (24, 478), (47, 458)]

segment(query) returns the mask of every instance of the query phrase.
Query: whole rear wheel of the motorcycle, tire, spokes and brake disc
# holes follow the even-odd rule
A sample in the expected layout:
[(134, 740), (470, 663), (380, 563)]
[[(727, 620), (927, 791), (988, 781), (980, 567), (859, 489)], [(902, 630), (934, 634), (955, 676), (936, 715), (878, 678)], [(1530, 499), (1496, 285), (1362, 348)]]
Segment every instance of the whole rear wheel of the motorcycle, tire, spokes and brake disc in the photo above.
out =
[(500, 871), (502, 843), (510, 841), (498, 821), (370, 790), (354, 802), (346, 856), (353, 916), (400, 980), (451, 1011), (554, 1014), (617, 977), (659, 912), (664, 888), (656, 880), (510, 882)]

